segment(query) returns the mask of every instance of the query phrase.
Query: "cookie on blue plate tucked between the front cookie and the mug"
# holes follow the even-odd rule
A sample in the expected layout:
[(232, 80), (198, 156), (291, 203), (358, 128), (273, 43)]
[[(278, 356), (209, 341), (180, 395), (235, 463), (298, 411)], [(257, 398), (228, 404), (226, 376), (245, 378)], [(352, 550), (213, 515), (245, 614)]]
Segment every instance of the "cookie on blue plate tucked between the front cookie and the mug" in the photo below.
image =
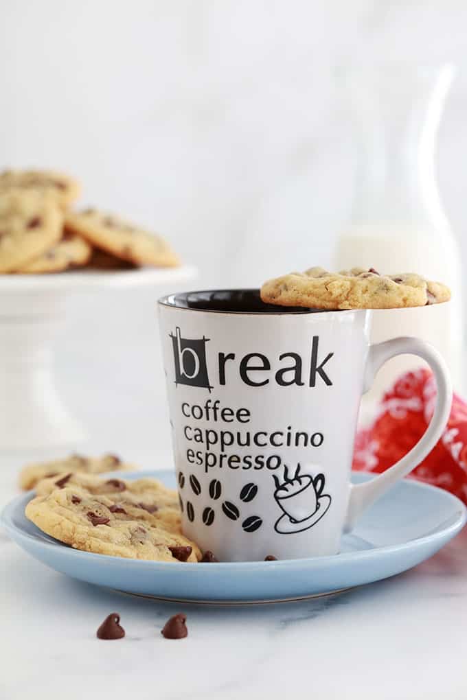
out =
[(69, 472), (60, 477), (42, 479), (36, 485), (38, 496), (48, 496), (56, 489), (73, 487), (85, 496), (106, 496), (112, 512), (123, 519), (144, 520), (181, 534), (181, 511), (176, 491), (167, 489), (157, 479), (108, 479), (85, 473)]

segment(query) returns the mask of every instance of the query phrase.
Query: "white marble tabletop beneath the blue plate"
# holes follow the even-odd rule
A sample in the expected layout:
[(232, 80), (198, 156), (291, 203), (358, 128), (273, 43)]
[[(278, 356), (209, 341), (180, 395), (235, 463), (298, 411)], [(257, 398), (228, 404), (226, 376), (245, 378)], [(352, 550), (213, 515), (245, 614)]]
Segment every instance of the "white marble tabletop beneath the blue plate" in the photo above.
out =
[[(1, 503), (21, 461), (1, 459)], [(417, 568), (344, 594), (223, 608), (69, 580), (0, 531), (0, 698), (464, 700), (466, 545), (463, 531)], [(125, 638), (97, 640), (112, 611)], [(189, 636), (165, 640), (175, 612)]]

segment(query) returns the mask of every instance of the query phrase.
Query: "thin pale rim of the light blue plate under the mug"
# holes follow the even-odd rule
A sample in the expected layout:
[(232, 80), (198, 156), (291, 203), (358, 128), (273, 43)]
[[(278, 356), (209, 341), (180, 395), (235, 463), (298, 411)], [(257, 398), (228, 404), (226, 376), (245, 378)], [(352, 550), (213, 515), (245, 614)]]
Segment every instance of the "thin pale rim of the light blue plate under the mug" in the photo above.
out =
[[(106, 475), (103, 475), (106, 476)], [(174, 477), (174, 471), (170, 469), (165, 470), (144, 470), (137, 472), (111, 472), (109, 476), (116, 478), (121, 477), (124, 479), (140, 479), (140, 478), (158, 478), (164, 479), (167, 477)], [(352, 478), (356, 479), (356, 482), (365, 482), (374, 478), (375, 474), (368, 472), (352, 472)], [(462, 501), (454, 496), (449, 491), (444, 489), (439, 489), (438, 486), (432, 486), (431, 484), (424, 484), (416, 479), (404, 479), (405, 486), (409, 486), (414, 489), (428, 489), (435, 491), (440, 498), (447, 498), (451, 500), (453, 505), (459, 510), (459, 517), (446, 528), (442, 528), (438, 532), (431, 533), (428, 535), (423, 535), (421, 537), (414, 538), (412, 540), (407, 540), (407, 542), (400, 542), (395, 545), (384, 545), (382, 547), (373, 547), (372, 549), (365, 549), (358, 552), (343, 552), (342, 554), (330, 554), (326, 556), (311, 556), (302, 557), (300, 559), (282, 559), (277, 561), (218, 561), (215, 563), (209, 563), (207, 570), (214, 573), (220, 570), (280, 570), (282, 568), (301, 568), (305, 564), (310, 566), (312, 563), (316, 562), (317, 565), (323, 566), (328, 564), (332, 566), (334, 563), (346, 563), (346, 562), (356, 562), (365, 561), (365, 559), (372, 559), (375, 555), (384, 556), (386, 554), (392, 554), (397, 552), (404, 552), (406, 549), (412, 549), (417, 543), (417, 545), (424, 545), (429, 543), (435, 543), (439, 540), (445, 542), (446, 539), (454, 537), (461, 528), (466, 524), (467, 521), (467, 507), (462, 503)], [(37, 542), (38, 535), (32, 535), (25, 532), (22, 528), (16, 526), (13, 522), (13, 514), (16, 512), (17, 508), (22, 505), (23, 509), (31, 500), (34, 498), (34, 491), (27, 491), (27, 493), (21, 493), (11, 500), (0, 513), (0, 525), (4, 527), (8, 534), (12, 535), (12, 538), (19, 538), (22, 540), (30, 540), (32, 542)], [(38, 530), (39, 532), (39, 530)], [(83, 552), (81, 549), (74, 549), (73, 547), (68, 547), (64, 545), (59, 540), (53, 542), (49, 540), (41, 540), (41, 546), (47, 549), (53, 549), (55, 547), (60, 547), (61, 554), (63, 556), (81, 556), (83, 559), (91, 559), (95, 561), (104, 562), (106, 561), (109, 565), (121, 564), (122, 558), (120, 556), (111, 556), (109, 554), (94, 554), (93, 552)], [(126, 566), (141, 567), (146, 566), (148, 568), (162, 568), (163, 570), (183, 570), (190, 571), (198, 567), (193, 567), (193, 563), (188, 562), (169, 562), (169, 561), (148, 561), (145, 559), (125, 559)]]

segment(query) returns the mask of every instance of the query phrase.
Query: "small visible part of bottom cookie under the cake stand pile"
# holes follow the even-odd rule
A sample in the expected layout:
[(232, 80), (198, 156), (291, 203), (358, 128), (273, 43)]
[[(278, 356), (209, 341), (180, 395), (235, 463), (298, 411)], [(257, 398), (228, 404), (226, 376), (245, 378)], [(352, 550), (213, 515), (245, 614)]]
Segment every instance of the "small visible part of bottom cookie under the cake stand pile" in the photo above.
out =
[(44, 272), (63, 272), (65, 269), (83, 267), (91, 257), (92, 247), (73, 233), (66, 233), (60, 241), (48, 248), (45, 253), (34, 258), (17, 272), (25, 274), (42, 274)]

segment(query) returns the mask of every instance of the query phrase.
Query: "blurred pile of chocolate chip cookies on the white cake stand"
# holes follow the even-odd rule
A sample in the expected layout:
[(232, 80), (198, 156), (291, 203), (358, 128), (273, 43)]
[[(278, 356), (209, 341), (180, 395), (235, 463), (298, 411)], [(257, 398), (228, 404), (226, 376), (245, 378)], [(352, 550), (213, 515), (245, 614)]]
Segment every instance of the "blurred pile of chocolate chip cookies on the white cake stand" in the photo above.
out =
[(0, 272), (179, 265), (160, 236), (97, 209), (71, 211), (80, 189), (52, 171), (0, 174)]

